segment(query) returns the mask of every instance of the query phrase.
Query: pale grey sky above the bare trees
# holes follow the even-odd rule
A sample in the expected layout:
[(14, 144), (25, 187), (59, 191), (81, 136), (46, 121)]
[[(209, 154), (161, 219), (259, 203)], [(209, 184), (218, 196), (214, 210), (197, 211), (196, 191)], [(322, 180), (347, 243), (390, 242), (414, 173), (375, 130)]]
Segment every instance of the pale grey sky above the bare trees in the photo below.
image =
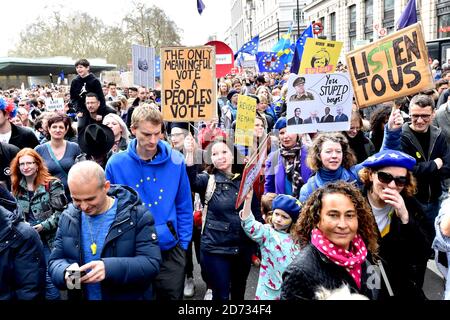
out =
[[(183, 45), (203, 45), (209, 35), (216, 33), (223, 41), (230, 25), (228, 0), (203, 0), (206, 8), (202, 15), (197, 12), (196, 0), (145, 0), (148, 6), (156, 5), (183, 30)], [(39, 16), (48, 16), (52, 11), (85, 11), (102, 19), (107, 24), (119, 20), (133, 6), (133, 0), (8, 0), (2, 6), (0, 19), (0, 57), (19, 39), (19, 33)], [(7, 10), (7, 11), (6, 11)], [(43, 39), (45, 41), (45, 39)]]

